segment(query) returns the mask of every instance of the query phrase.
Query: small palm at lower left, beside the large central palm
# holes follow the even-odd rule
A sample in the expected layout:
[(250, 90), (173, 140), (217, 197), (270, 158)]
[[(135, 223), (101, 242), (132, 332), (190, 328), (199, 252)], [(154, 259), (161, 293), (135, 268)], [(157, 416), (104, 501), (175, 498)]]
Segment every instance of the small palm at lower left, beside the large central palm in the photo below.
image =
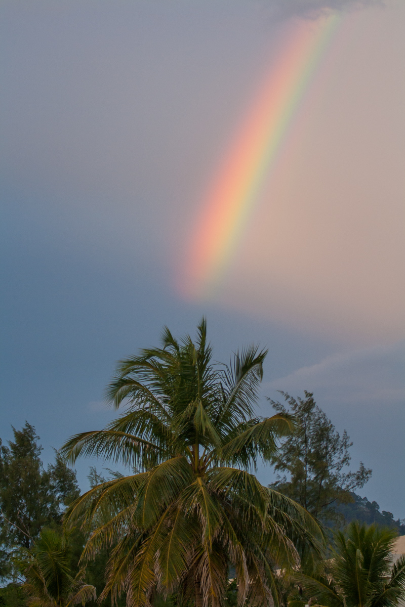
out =
[(43, 529), (33, 548), (20, 555), (19, 566), (26, 577), (22, 588), (30, 607), (70, 607), (96, 599), (94, 586), (83, 582), (83, 568), (73, 577), (69, 554), (66, 535)]

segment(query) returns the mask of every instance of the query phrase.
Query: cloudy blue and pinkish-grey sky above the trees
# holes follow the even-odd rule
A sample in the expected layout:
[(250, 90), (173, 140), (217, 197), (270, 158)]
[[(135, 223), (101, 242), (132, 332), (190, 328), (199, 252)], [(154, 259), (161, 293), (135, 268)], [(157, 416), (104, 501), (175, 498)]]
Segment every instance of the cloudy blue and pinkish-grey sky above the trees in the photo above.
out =
[[(0, 17), (1, 438), (27, 419), (50, 461), (112, 419), (118, 359), (205, 314), (217, 360), (268, 347), (260, 413), (314, 392), (373, 469), (360, 495), (404, 518), (405, 4), (4, 0)], [(288, 53), (326, 31), (283, 97)], [(284, 130), (209, 265), (204, 217), (277, 83)]]

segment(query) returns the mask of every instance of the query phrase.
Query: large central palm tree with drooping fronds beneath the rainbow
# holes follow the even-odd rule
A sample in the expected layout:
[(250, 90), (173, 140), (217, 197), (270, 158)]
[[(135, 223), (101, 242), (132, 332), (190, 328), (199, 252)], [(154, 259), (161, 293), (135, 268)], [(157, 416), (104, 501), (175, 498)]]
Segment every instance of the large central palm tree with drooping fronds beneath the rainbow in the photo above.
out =
[(91, 532), (84, 558), (114, 546), (101, 599), (125, 591), (128, 605), (143, 607), (154, 592), (177, 592), (180, 603), (216, 607), (232, 566), (240, 603), (273, 605), (276, 566), (296, 566), (304, 544), (316, 553), (316, 521), (251, 473), (293, 427), (288, 415), (254, 415), (266, 353), (250, 347), (214, 365), (203, 319), (196, 344), (165, 328), (162, 348), (120, 362), (107, 395), (128, 409), (63, 448), (71, 462), (96, 455), (133, 471), (66, 514), (68, 526)]

